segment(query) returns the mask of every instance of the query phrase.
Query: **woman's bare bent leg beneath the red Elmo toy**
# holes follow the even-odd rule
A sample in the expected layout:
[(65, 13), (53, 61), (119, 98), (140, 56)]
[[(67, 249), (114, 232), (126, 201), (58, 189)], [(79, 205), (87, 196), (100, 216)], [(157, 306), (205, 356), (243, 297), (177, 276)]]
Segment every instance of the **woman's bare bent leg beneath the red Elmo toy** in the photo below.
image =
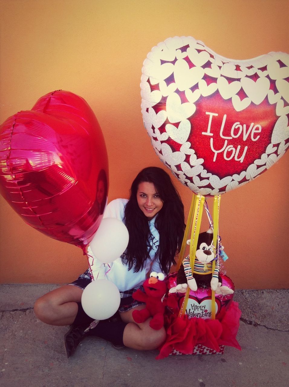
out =
[(166, 330), (164, 327), (159, 330), (152, 329), (149, 325), (151, 318), (137, 324), (133, 320), (132, 312), (143, 308), (145, 308), (145, 305), (120, 313), (121, 320), (128, 323), (123, 332), (123, 344), (128, 348), (139, 350), (156, 349), (166, 339)]

